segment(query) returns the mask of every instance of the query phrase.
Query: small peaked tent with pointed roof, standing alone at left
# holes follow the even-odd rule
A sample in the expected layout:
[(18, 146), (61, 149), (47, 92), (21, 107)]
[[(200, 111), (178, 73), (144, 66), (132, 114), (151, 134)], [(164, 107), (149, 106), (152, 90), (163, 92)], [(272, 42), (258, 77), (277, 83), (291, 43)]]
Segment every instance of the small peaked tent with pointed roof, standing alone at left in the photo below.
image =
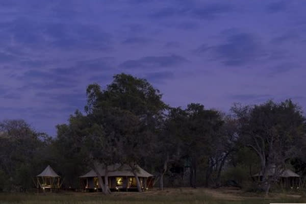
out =
[(60, 188), (60, 177), (51, 167), (48, 165), (40, 174), (37, 176), (37, 188), (45, 189), (59, 189)]

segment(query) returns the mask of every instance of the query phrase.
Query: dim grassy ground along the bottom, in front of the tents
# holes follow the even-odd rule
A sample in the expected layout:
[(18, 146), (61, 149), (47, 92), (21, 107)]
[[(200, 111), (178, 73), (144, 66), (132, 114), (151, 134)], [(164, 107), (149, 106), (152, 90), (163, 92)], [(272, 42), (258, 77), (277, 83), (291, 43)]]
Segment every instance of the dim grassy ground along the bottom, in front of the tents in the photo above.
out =
[(0, 193), (0, 203), (25, 204), (96, 204), (96, 203), (270, 203), (270, 202), (306, 202), (301, 195), (271, 194), (264, 197), (259, 194), (246, 194), (233, 189), (166, 189), (165, 191), (152, 190), (143, 193), (115, 192), (105, 196), (101, 193)]

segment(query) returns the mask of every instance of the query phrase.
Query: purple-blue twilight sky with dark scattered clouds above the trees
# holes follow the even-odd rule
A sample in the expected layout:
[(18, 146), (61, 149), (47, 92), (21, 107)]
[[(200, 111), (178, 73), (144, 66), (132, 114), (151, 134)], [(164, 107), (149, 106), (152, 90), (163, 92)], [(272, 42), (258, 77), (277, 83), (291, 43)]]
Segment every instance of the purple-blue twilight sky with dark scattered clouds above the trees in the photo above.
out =
[(55, 136), (86, 86), (146, 78), (171, 106), (292, 98), (305, 110), (306, 1), (0, 2), (0, 119)]

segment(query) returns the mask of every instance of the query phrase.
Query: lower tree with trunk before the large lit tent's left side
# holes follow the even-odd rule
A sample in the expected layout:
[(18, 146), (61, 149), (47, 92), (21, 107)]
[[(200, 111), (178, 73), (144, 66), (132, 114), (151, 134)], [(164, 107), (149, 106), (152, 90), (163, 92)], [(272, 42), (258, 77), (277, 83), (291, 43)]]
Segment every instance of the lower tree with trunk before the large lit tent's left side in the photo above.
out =
[[(104, 122), (107, 121), (106, 118), (110, 120), (110, 116), (97, 114), (83, 115), (77, 110), (74, 115), (70, 116), (68, 125), (62, 124), (57, 126), (57, 146), (61, 147), (59, 152), (65, 152), (65, 156), (67, 156), (63, 158), (63, 161), (66, 161), (63, 166), (70, 167), (76, 163), (79, 163), (80, 167), (90, 166), (97, 174), (99, 187), (105, 194), (110, 193), (108, 186), (108, 165), (118, 161), (118, 149), (120, 149), (116, 140), (116, 134), (107, 132), (104, 127)], [(108, 129), (111, 129), (111, 127), (108, 126)], [(106, 170), (104, 181), (99, 174), (99, 165), (103, 165)], [(75, 175), (71, 176), (75, 177)]]

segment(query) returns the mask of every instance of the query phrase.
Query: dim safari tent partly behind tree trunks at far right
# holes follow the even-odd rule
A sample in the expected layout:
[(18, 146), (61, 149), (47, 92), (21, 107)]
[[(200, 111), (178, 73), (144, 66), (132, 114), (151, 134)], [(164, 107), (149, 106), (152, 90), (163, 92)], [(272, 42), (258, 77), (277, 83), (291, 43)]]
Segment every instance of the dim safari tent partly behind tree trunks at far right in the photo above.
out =
[[(275, 174), (275, 168), (271, 168), (268, 172), (268, 176), (273, 176)], [(257, 174), (252, 175), (252, 177), (256, 181), (262, 181), (262, 172), (259, 172)], [(293, 172), (290, 169), (285, 169), (281, 171), (278, 175), (278, 183), (283, 187), (283, 188), (291, 188), (291, 189), (299, 189), (301, 185), (301, 179), (300, 175), (297, 173)]]

